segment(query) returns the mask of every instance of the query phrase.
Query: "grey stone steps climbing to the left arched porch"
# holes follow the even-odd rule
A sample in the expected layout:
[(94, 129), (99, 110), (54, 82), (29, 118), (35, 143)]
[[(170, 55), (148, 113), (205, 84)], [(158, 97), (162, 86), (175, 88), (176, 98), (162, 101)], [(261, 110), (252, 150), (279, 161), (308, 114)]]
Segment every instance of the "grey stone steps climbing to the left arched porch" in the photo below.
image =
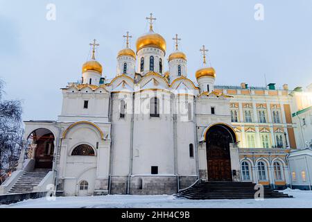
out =
[(33, 187), (40, 184), (42, 179), (49, 172), (49, 169), (35, 169), (25, 171), (15, 182), (15, 185), (8, 191), (9, 194), (24, 194), (33, 191)]

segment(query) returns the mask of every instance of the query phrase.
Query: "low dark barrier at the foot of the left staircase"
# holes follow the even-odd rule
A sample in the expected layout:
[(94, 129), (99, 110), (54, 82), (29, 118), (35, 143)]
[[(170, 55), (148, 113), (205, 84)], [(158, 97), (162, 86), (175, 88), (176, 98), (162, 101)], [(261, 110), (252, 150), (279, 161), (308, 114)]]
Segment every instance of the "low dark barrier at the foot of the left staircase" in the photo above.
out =
[(17, 203), (21, 200), (27, 200), (27, 199), (36, 199), (36, 198), (42, 198), (46, 196), (48, 192), (32, 192), (32, 193), (26, 193), (26, 194), (4, 194), (0, 195), (0, 205), (3, 204), (10, 204), (10, 203)]

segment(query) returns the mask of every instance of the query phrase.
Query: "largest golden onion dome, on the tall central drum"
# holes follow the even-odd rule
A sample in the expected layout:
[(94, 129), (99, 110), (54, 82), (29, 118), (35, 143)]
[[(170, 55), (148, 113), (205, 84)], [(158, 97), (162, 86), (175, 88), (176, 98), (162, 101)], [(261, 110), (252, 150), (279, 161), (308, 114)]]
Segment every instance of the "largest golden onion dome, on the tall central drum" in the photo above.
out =
[(162, 35), (154, 33), (153, 30), (149, 31), (145, 35), (142, 35), (137, 39), (137, 52), (145, 47), (156, 47), (162, 49), (166, 53), (166, 40)]

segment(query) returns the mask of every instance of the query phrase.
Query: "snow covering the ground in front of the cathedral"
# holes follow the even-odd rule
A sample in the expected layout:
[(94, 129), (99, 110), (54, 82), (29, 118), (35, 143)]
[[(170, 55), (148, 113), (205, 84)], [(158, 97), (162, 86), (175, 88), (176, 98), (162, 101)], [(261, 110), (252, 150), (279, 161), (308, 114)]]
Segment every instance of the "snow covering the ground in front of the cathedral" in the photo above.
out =
[(56, 200), (39, 198), (24, 200), (0, 208), (311, 208), (312, 191), (286, 189), (294, 198), (264, 200), (188, 200), (171, 195), (108, 195), (58, 197)]

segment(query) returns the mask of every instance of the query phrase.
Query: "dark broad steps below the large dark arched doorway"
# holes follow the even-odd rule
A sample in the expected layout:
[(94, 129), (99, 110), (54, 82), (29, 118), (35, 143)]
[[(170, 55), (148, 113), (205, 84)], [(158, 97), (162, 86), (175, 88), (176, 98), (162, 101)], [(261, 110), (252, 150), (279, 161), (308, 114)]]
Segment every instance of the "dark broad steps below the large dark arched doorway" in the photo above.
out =
[[(199, 182), (188, 189), (179, 191), (177, 197), (194, 200), (207, 199), (253, 199), (257, 190), (253, 182)], [(274, 189), (263, 189), (263, 198), (292, 198)]]

